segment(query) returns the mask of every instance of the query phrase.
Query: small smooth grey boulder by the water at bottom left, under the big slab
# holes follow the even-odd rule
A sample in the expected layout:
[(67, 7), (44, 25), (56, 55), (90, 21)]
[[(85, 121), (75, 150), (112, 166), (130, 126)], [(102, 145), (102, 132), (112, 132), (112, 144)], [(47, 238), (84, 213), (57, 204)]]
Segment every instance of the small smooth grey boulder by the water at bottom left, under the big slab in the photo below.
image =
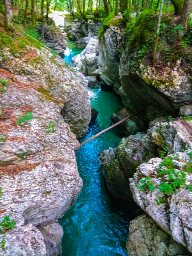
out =
[(61, 256), (61, 239), (63, 228), (58, 223), (48, 224), (39, 229), (44, 237), (44, 244), (47, 249), (47, 256)]

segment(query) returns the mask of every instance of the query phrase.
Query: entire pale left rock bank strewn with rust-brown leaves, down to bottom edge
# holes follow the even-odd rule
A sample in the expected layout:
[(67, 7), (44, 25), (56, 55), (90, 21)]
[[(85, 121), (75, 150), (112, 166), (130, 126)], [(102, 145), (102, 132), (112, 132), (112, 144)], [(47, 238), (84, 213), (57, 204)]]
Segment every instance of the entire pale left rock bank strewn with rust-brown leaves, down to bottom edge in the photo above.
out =
[(8, 215), (16, 227), (3, 228), (0, 255), (59, 256), (57, 220), (82, 188), (75, 152), (91, 118), (86, 79), (43, 48), (2, 52), (0, 221)]

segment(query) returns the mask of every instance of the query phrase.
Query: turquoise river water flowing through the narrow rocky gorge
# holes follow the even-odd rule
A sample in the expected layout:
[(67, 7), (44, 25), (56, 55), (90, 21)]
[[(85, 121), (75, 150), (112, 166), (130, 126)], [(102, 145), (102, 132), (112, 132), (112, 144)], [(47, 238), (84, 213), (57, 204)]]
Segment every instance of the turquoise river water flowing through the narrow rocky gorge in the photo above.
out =
[[(71, 56), (65, 54), (64, 59), (70, 61), (76, 55), (75, 47), (74, 44), (68, 51)], [(88, 88), (88, 93), (99, 114), (81, 142), (108, 128), (112, 113), (122, 109), (113, 92)], [(76, 154), (83, 188), (76, 204), (59, 219), (64, 227), (62, 256), (127, 256), (129, 220), (105, 189), (98, 157), (100, 151), (116, 147), (120, 140), (112, 129), (81, 146)]]

